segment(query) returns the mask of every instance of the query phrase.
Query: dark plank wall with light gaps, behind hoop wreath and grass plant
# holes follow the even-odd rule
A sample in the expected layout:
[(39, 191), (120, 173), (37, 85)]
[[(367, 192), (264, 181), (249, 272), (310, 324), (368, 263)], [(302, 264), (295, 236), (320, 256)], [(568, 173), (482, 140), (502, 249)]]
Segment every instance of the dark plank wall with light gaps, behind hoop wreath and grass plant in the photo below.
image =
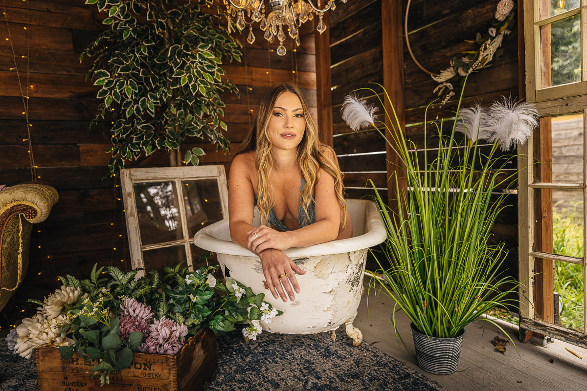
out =
[[(447, 1), (413, 0), (410, 5), (408, 30), (412, 50), (417, 60), (431, 72), (446, 69), (453, 56), (473, 49), (464, 42), (474, 39), (477, 32), (491, 26), (498, 0)], [(404, 0), (405, 16), (407, 0)], [(382, 83), (382, 29), (380, 22), (381, 0), (348, 1), (337, 4), (330, 15), (330, 50), (332, 58), (332, 104), (334, 147), (340, 165), (345, 171), (345, 185), (352, 197), (370, 196), (366, 178), (373, 179), (377, 188), (386, 189), (385, 146), (375, 131), (350, 132), (340, 117), (340, 104), (353, 89), (369, 87), (369, 82)], [(505, 37), (502, 47), (494, 56), (491, 66), (472, 74), (465, 87), (463, 106), (474, 101), (490, 104), (501, 96), (519, 96), (518, 33)], [(406, 134), (423, 147), (424, 114), (426, 106), (434, 100), (432, 91), (437, 83), (422, 72), (411, 60), (404, 43), (404, 87)], [(523, 86), (523, 83), (522, 83)], [(376, 97), (360, 93), (370, 103)], [(380, 105), (378, 105), (380, 107)], [(457, 100), (443, 107), (430, 107), (427, 118), (454, 118)], [(450, 124), (451, 125), (451, 124)], [(448, 127), (445, 127), (448, 130)], [(435, 127), (427, 127), (428, 148), (438, 145)], [(432, 151), (433, 153), (433, 151)], [(517, 162), (510, 159), (508, 167), (515, 169)], [(383, 193), (384, 192), (380, 192)], [(509, 251), (504, 268), (513, 276), (518, 270), (517, 198), (508, 196), (509, 206), (501, 213), (494, 226), (496, 240), (503, 240)]]

